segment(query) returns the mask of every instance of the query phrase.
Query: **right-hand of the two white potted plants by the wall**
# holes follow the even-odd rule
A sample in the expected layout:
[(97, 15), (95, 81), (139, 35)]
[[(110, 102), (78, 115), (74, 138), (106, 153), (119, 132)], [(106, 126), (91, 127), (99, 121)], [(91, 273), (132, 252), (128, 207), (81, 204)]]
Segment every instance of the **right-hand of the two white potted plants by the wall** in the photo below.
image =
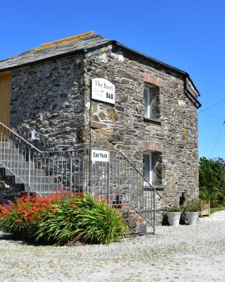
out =
[(184, 203), (184, 212), (189, 225), (195, 225), (203, 204), (198, 199), (188, 200)]

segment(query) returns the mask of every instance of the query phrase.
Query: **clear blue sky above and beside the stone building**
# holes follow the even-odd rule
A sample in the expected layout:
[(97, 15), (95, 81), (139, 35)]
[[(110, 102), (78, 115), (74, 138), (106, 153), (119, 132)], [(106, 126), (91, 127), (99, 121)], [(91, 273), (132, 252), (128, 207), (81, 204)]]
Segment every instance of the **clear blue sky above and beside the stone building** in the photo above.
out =
[[(200, 91), (199, 152), (225, 121), (225, 1), (2, 1), (0, 60), (89, 30), (188, 72)], [(217, 106), (203, 111), (208, 107)], [(225, 126), (211, 157), (225, 159)]]

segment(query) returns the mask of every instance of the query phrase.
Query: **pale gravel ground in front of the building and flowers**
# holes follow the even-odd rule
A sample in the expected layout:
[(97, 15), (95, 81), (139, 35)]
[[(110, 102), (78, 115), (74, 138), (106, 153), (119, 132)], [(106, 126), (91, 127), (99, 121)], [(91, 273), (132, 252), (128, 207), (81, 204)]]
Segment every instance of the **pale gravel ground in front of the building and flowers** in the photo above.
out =
[(0, 281), (224, 282), (225, 214), (110, 245), (27, 245), (0, 233)]

